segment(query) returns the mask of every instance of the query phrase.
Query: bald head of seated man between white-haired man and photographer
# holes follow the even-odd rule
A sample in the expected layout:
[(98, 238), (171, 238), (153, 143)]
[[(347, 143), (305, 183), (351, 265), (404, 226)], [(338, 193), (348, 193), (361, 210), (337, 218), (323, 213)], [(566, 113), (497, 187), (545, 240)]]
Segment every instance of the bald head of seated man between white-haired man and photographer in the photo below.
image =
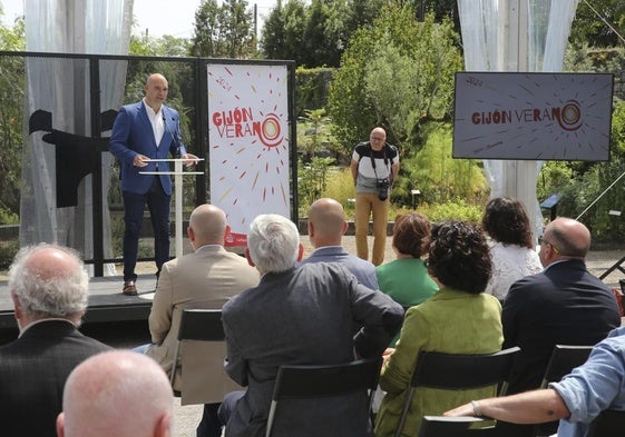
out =
[(343, 206), (334, 199), (322, 198), (309, 209), (309, 237), (318, 247), (340, 246), (348, 229)]

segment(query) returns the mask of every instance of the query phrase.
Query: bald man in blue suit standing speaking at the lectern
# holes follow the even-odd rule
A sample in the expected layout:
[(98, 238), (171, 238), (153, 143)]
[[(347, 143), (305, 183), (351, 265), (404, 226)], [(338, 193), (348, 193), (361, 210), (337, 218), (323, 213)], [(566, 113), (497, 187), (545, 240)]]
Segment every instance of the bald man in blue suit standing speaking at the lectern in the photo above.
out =
[(169, 175), (139, 175), (139, 171), (169, 171), (169, 155), (187, 159), (193, 165), (196, 156), (187, 153), (180, 138), (178, 112), (164, 103), (167, 98), (167, 79), (154, 73), (144, 87), (145, 98), (126, 105), (117, 115), (110, 136), (109, 150), (119, 160), (121, 192), (124, 196), (124, 289), (125, 295), (137, 294), (135, 265), (139, 232), (147, 203), (154, 229), (156, 277), (169, 259), (169, 203), (172, 179)]

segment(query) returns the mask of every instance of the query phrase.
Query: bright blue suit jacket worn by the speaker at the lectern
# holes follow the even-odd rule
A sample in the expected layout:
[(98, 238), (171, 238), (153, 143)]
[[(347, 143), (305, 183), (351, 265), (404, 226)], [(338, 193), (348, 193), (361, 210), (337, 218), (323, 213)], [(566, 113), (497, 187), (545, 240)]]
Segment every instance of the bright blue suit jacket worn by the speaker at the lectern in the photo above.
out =
[[(178, 152), (186, 153), (180, 138), (178, 112), (165, 105), (160, 108), (160, 112), (165, 120), (165, 131), (158, 147), (143, 100), (121, 107), (115, 119), (109, 150), (119, 160), (123, 191), (145, 195), (149, 190), (155, 176), (139, 175), (139, 171), (170, 171), (169, 162), (150, 162), (147, 167), (135, 167), (133, 160), (137, 155), (145, 155), (152, 159), (166, 159), (169, 153), (173, 156)], [(169, 175), (158, 177), (163, 190), (170, 196), (172, 178)]]

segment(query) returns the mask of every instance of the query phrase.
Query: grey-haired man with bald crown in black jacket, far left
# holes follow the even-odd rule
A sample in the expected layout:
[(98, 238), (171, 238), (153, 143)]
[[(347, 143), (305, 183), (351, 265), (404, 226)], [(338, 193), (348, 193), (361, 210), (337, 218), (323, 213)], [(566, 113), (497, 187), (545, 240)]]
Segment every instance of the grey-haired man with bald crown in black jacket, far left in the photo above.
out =
[(0, 434), (53, 437), (69, 373), (110, 348), (77, 329), (87, 308), (89, 278), (69, 249), (21, 249), (9, 271), (19, 338), (0, 347)]

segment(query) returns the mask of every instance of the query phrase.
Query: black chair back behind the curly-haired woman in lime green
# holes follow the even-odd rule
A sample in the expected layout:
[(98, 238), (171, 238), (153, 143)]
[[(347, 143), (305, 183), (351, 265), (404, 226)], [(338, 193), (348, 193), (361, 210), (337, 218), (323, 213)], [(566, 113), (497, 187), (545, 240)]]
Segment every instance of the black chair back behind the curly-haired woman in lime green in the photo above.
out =
[(419, 354), (403, 403), (403, 410), (395, 428), (395, 437), (401, 436), (412, 396), (418, 387), (468, 390), (496, 385), (497, 395), (505, 395), (512, 360), (519, 351), (520, 348), (515, 346), (496, 354), (467, 355), (429, 351)]

